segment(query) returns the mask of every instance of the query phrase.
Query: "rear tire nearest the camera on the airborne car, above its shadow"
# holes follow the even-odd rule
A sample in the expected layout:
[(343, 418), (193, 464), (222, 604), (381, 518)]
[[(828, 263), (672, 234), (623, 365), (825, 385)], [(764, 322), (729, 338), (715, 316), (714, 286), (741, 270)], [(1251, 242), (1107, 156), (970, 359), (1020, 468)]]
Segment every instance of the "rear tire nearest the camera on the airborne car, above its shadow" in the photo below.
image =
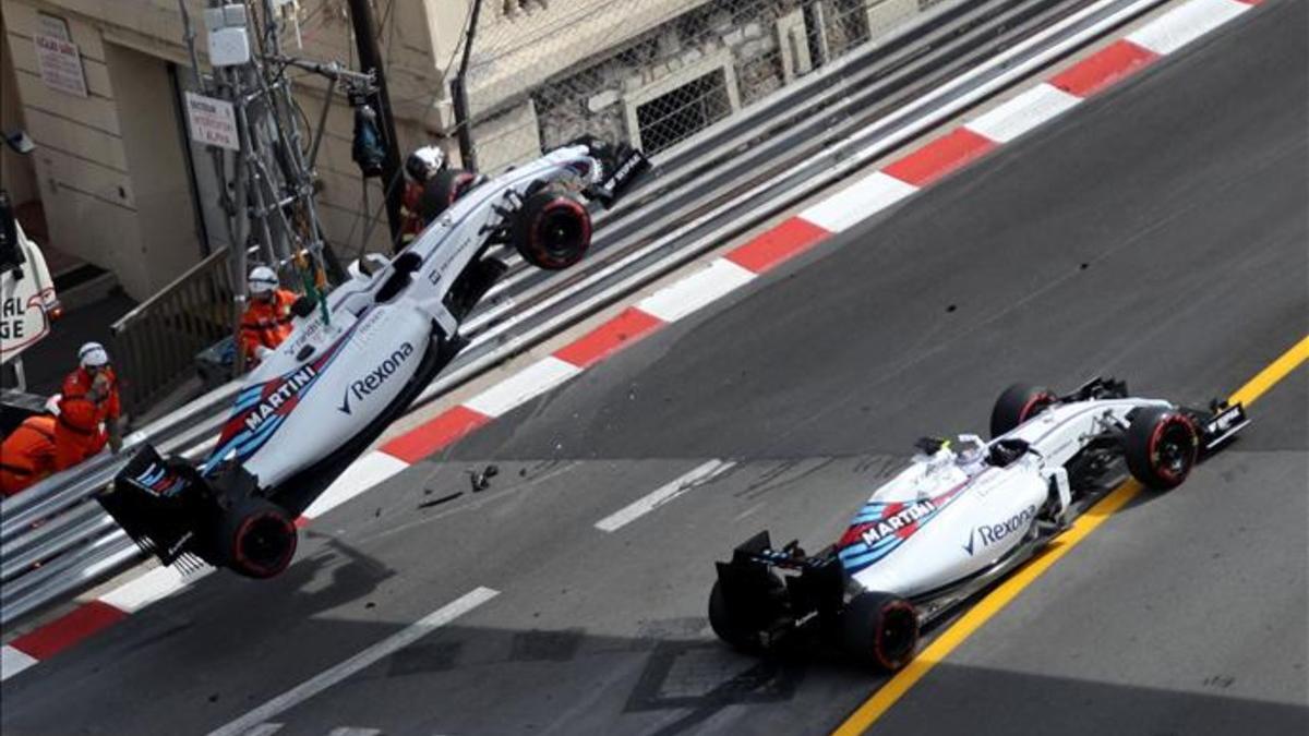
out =
[(267, 499), (246, 499), (230, 508), (217, 526), (223, 566), (246, 578), (274, 578), (296, 557), (296, 524), (284, 508)]

